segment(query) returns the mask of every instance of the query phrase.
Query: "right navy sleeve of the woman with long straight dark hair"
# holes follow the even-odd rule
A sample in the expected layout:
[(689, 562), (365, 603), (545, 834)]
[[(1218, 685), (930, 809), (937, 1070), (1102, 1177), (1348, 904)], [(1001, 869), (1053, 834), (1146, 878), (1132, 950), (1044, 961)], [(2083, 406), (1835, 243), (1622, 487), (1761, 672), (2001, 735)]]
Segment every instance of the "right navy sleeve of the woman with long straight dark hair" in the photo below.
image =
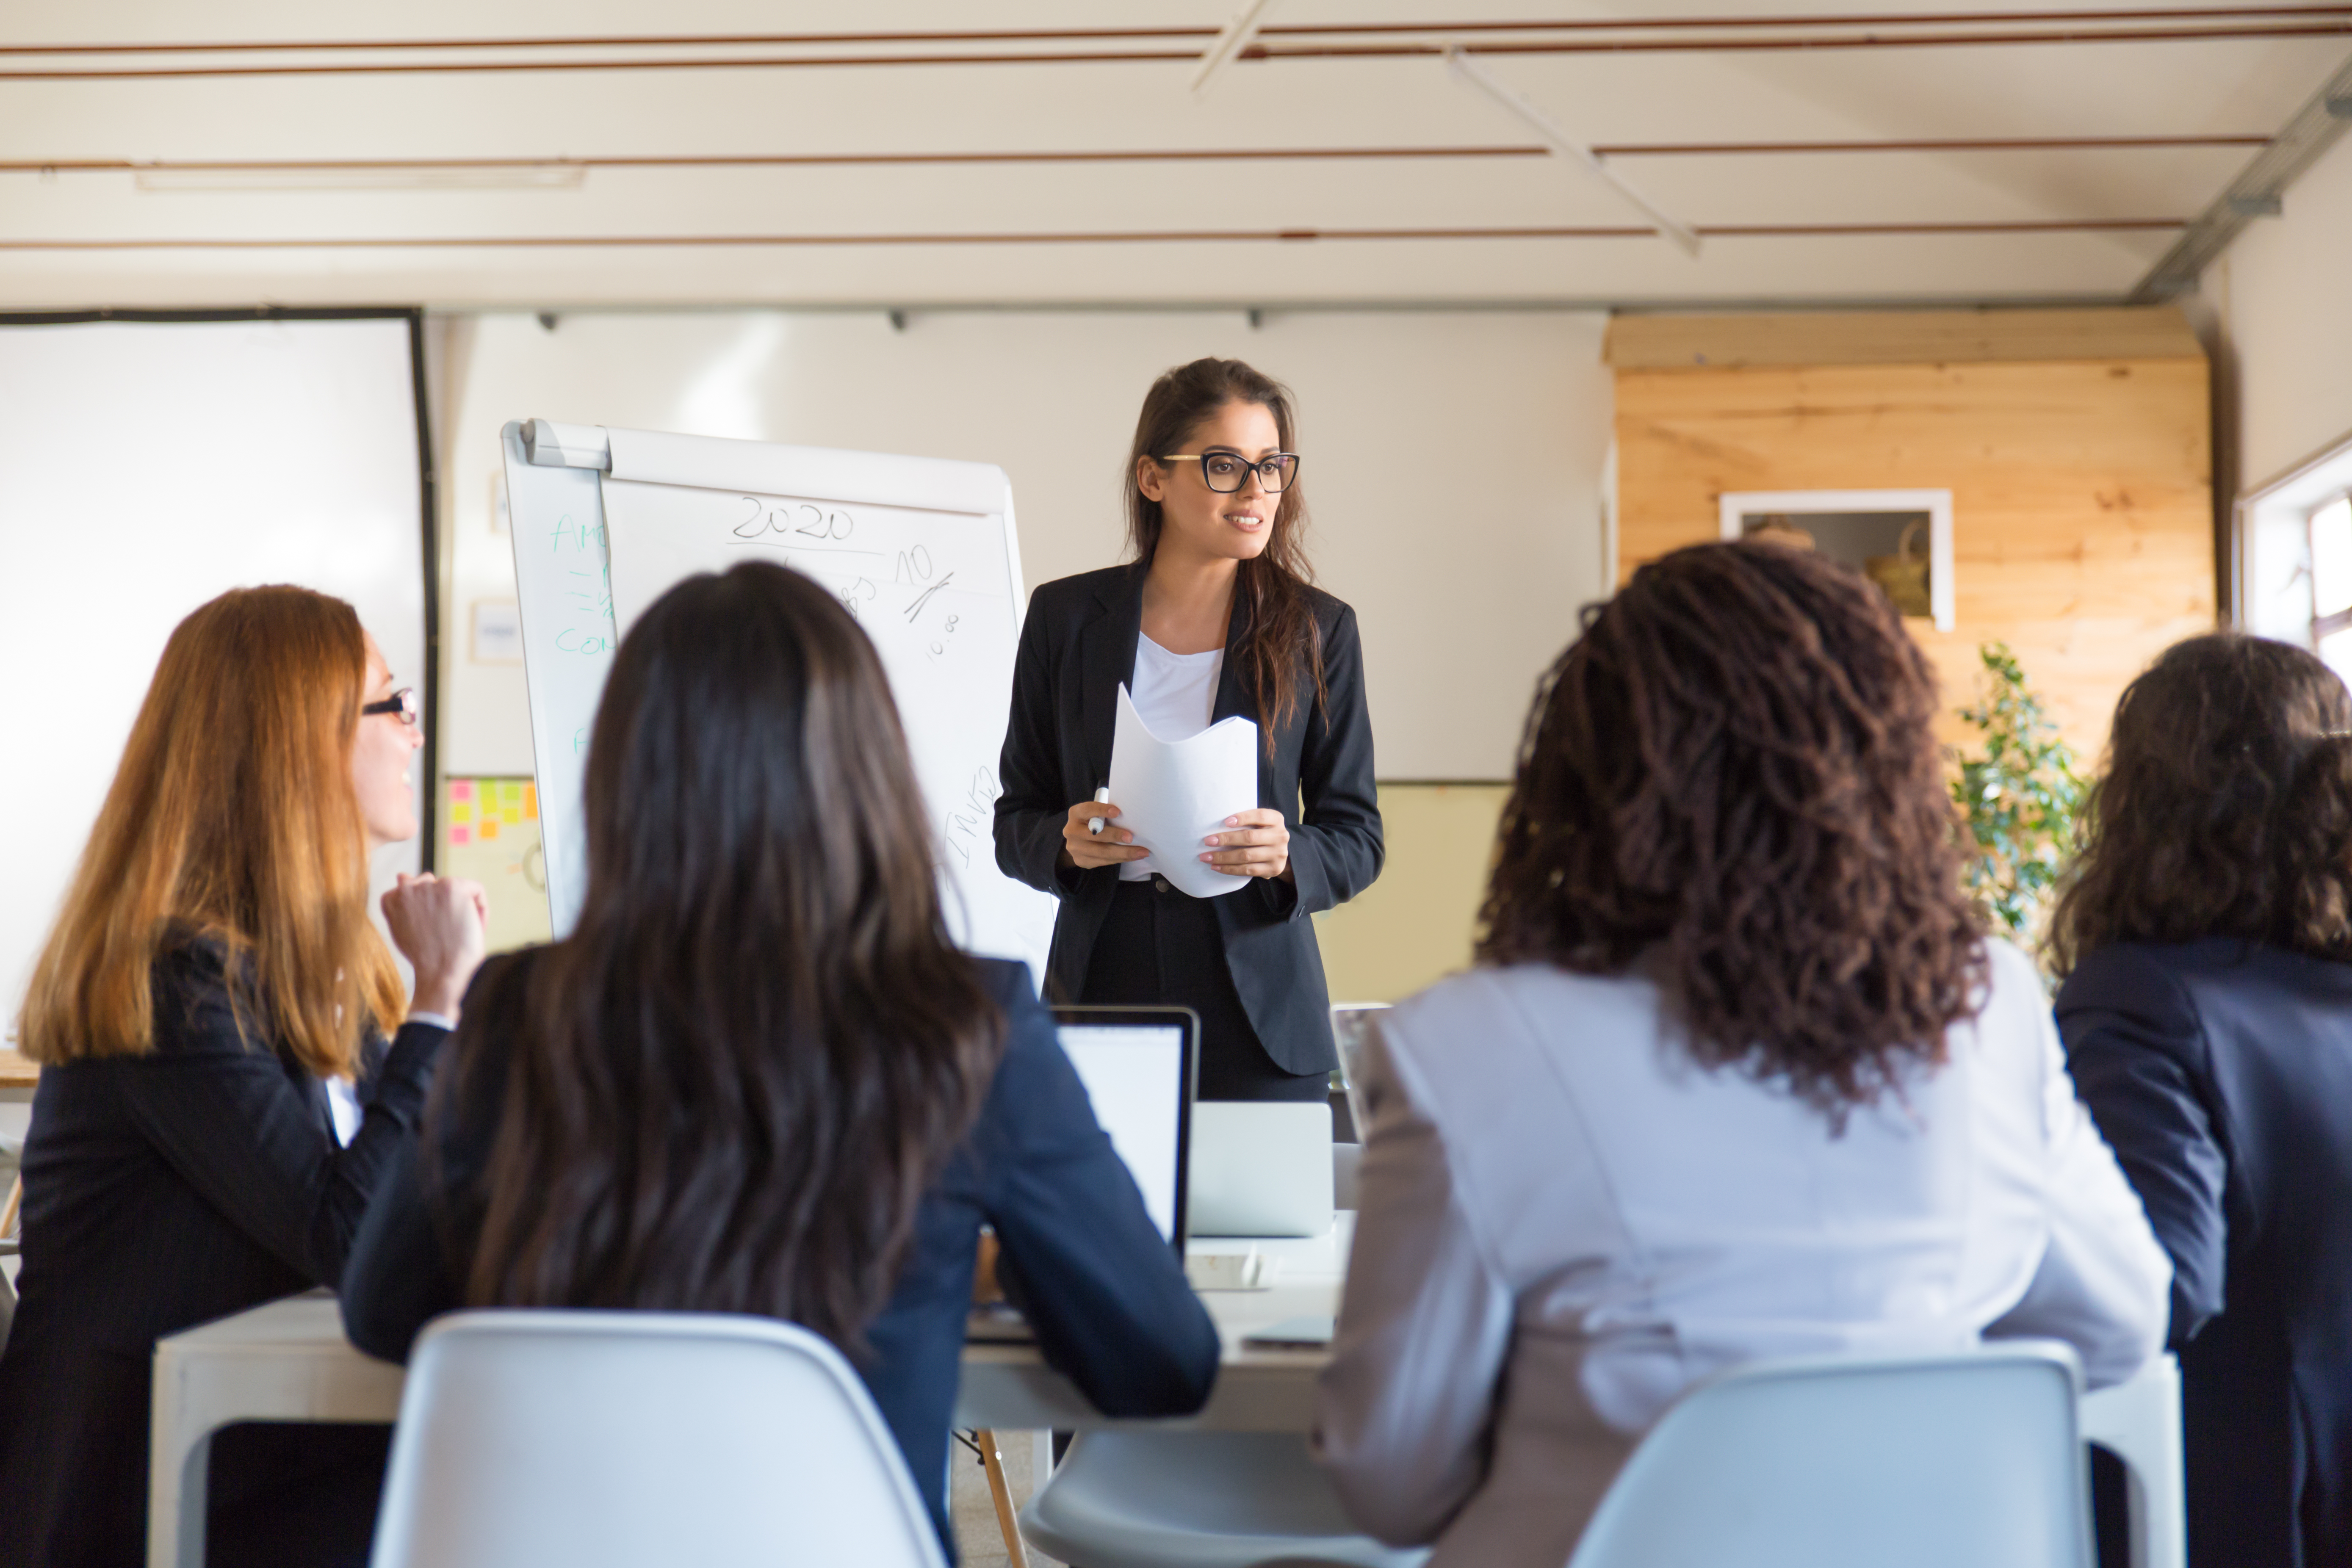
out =
[(1103, 1415), (1188, 1415), (1216, 1382), (1216, 1326), (1094, 1121), (1051, 1016), (1025, 980), (1000, 999), (1011, 1039), (976, 1154), (1007, 1295)]

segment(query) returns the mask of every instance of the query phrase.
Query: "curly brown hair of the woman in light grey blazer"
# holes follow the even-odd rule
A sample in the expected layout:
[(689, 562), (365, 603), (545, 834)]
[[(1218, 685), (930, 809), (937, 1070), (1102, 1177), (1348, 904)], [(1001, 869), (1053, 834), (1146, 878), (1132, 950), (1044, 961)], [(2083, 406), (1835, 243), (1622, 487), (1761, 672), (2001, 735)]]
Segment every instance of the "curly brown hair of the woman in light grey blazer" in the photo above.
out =
[(1832, 1119), (1943, 1063), (1983, 926), (1893, 604), (1828, 557), (1675, 550), (1545, 675), (1479, 912), (1486, 964), (1644, 959), (1708, 1067)]

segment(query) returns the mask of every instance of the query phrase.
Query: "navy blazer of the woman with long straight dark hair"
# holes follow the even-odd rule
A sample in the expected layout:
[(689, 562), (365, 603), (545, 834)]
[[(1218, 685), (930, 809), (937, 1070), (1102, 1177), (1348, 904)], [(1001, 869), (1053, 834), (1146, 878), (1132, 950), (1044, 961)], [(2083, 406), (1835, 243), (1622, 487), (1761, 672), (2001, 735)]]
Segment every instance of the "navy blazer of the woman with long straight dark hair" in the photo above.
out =
[[(482, 1173), (534, 961), (536, 952), (492, 959), (466, 997), (454, 1046), (466, 1098), (437, 1107), (426, 1131), (440, 1159), (440, 1201), (426, 1197), (416, 1157), (405, 1152), (353, 1248), (343, 1328), (369, 1354), (407, 1361), (426, 1319), (463, 1305), (487, 1204)], [(1028, 969), (976, 964), (1009, 1020), (1004, 1060), (978, 1121), (922, 1199), (898, 1288), (866, 1328), (870, 1354), (851, 1352), (950, 1561), (948, 1415), (983, 1222), (997, 1229), (1000, 1276), (1044, 1359), (1105, 1415), (1197, 1410), (1218, 1361), (1216, 1328), (1094, 1121)]]

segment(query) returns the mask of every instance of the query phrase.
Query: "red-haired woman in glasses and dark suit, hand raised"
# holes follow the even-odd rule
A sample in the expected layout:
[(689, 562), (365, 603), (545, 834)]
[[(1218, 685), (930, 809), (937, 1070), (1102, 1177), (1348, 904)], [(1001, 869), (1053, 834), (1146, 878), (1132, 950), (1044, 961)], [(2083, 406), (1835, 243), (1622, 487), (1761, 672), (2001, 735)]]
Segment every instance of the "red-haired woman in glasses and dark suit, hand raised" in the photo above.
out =
[[(386, 898), (426, 1009), (386, 1041), (407, 999), (367, 851), (416, 832), (421, 741), (390, 684), (350, 607), (299, 588), (223, 595), (165, 649), (26, 999), (42, 1072), (0, 1354), (5, 1561), (146, 1561), (155, 1340), (341, 1279), (416, 1131), (482, 938), (470, 884)], [(362, 1429), (221, 1434), (209, 1561), (365, 1554), (381, 1450)]]

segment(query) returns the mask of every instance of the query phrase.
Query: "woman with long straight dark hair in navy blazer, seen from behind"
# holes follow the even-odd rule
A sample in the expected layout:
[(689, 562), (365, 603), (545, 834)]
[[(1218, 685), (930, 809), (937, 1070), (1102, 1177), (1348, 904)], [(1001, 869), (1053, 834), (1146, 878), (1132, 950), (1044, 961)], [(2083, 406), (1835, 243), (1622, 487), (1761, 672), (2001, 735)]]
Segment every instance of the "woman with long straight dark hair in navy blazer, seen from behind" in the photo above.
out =
[(762, 1312), (833, 1340), (948, 1533), (981, 1225), (1047, 1361), (1197, 1410), (1218, 1340), (1021, 964), (948, 943), (873, 644), (771, 564), (630, 628), (588, 745), (588, 896), (466, 999), (343, 1276), (362, 1349), (454, 1307)]

